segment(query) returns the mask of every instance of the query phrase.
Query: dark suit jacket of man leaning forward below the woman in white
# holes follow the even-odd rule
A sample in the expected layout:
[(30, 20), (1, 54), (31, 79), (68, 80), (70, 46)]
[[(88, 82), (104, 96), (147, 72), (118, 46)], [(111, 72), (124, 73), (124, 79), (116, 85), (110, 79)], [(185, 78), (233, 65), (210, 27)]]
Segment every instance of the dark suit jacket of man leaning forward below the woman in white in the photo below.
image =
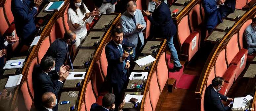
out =
[(59, 72), (61, 66), (65, 63), (67, 59), (67, 43), (64, 39), (56, 39), (44, 56), (52, 56), (55, 58), (55, 71)]

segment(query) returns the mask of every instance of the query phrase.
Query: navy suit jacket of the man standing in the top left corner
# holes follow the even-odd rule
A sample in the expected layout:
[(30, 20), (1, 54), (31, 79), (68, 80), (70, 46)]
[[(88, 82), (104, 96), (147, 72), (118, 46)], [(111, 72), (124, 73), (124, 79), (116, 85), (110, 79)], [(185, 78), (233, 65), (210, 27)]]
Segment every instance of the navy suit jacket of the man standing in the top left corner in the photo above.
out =
[(23, 0), (23, 2), (21, 0), (12, 0), (11, 10), (14, 16), (17, 35), (26, 39), (36, 30), (34, 15), (37, 13), (37, 10), (33, 8), (34, 3), (30, 0)]

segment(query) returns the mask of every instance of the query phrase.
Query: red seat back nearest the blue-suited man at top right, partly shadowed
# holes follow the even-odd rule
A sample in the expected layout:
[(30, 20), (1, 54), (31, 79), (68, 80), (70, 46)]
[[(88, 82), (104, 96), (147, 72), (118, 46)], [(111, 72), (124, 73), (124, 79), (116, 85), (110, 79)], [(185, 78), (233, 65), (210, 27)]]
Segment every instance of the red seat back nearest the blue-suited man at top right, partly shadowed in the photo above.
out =
[(189, 23), (191, 31), (194, 31), (202, 23), (200, 4), (196, 4), (189, 12)]

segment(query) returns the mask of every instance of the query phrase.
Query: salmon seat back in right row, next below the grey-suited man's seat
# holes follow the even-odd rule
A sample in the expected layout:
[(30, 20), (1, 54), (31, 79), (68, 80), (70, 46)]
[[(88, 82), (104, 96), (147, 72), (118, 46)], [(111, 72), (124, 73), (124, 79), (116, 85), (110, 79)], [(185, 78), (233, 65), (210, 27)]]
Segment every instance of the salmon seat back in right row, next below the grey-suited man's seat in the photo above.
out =
[(226, 46), (226, 57), (228, 65), (231, 63), (235, 55), (239, 52), (238, 42), (237, 42), (237, 33), (235, 33), (229, 40)]

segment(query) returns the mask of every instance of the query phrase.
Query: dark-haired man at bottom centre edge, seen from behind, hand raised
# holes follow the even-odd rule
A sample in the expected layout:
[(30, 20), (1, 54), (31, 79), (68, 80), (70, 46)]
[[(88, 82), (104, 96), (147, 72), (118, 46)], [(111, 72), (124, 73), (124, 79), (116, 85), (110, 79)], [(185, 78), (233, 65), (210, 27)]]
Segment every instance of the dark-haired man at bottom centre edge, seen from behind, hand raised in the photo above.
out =
[[(93, 103), (90, 111), (113, 111), (115, 109), (115, 95), (112, 93), (107, 93), (104, 95), (102, 99), (102, 105), (98, 105), (97, 103)], [(125, 101), (123, 101), (118, 106), (118, 111), (122, 111), (124, 107)]]

